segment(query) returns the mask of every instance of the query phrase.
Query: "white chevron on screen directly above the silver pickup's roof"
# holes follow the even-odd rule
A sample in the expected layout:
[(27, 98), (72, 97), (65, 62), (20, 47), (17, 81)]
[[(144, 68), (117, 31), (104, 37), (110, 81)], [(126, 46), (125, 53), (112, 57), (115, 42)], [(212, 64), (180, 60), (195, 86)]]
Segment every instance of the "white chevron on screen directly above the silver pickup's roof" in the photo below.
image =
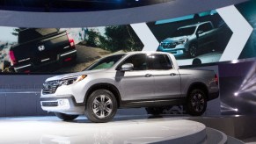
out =
[(150, 28), (146, 23), (131, 24), (135, 33), (143, 42), (143, 51), (156, 51), (159, 45), (156, 37), (150, 31)]

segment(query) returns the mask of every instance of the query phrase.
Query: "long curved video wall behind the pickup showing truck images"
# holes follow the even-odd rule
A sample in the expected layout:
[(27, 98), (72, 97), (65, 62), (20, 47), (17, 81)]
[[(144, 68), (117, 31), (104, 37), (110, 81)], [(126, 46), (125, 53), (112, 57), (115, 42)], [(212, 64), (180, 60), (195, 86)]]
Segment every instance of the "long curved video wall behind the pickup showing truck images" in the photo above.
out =
[[(106, 55), (141, 50), (174, 54), (179, 66), (251, 58), (256, 55), (255, 5), (254, 1), (235, 5), (242, 20), (225, 18), (232, 11), (226, 7), (130, 25), (2, 26), (1, 68), (4, 73), (77, 72)], [(240, 23), (245, 26), (238, 32), (233, 27)], [(194, 59), (199, 61), (193, 63)]]

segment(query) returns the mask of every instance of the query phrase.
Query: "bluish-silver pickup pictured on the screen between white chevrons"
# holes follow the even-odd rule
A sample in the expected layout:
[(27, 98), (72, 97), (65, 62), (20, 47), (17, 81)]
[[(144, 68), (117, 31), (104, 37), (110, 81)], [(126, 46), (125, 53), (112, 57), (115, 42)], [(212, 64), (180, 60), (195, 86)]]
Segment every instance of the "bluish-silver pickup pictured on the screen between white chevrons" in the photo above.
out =
[(210, 52), (209, 47), (216, 46), (219, 32), (219, 28), (215, 28), (210, 21), (182, 26), (171, 38), (161, 41), (157, 51), (171, 53), (176, 57), (195, 57), (200, 51)]

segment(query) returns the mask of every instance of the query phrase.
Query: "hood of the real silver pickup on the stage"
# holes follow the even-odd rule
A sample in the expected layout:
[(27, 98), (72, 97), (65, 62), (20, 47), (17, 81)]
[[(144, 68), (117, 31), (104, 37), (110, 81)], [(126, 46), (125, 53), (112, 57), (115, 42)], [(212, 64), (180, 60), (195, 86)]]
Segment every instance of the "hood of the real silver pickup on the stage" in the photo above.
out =
[(77, 73), (64, 74), (60, 76), (53, 76), (53, 77), (49, 77), (46, 81), (61, 80), (63, 78), (72, 77), (72, 76), (90, 75), (90, 74), (99, 73), (102, 71), (106, 71), (106, 69), (88, 70), (88, 71), (81, 71)]

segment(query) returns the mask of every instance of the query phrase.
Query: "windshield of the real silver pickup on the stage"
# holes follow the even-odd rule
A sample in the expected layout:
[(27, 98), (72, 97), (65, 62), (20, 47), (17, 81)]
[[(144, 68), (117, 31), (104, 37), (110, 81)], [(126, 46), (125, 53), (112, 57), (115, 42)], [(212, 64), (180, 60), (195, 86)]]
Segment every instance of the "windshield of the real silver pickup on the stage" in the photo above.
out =
[(96, 69), (106, 69), (111, 68), (117, 61), (123, 57), (124, 54), (116, 54), (108, 56), (106, 58), (100, 59), (99, 61), (93, 63), (90, 67), (84, 70), (96, 70)]

